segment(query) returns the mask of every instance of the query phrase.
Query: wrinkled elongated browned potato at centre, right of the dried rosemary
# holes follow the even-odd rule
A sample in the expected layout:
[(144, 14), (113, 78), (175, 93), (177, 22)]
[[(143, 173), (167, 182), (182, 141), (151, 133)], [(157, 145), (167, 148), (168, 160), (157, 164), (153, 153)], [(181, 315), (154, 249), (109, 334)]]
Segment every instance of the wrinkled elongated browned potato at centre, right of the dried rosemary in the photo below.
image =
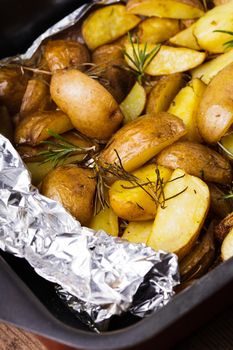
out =
[(99, 161), (102, 166), (119, 163), (118, 153), (124, 169), (133, 171), (185, 133), (179, 118), (165, 112), (147, 114), (116, 132), (101, 152)]

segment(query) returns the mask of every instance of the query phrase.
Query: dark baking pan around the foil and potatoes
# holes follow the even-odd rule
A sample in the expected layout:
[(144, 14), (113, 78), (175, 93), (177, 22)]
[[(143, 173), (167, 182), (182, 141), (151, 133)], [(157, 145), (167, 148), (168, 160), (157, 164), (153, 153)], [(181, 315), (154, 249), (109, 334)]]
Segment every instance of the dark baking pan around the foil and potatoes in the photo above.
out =
[[(1, 56), (23, 51), (38, 34), (82, 3), (85, 1), (3, 0)], [(0, 320), (78, 349), (169, 348), (232, 302), (230, 259), (179, 293), (156, 314), (143, 320), (128, 315), (116, 317), (108, 333), (95, 334), (62, 304), (52, 283), (36, 275), (23, 259), (0, 255)]]

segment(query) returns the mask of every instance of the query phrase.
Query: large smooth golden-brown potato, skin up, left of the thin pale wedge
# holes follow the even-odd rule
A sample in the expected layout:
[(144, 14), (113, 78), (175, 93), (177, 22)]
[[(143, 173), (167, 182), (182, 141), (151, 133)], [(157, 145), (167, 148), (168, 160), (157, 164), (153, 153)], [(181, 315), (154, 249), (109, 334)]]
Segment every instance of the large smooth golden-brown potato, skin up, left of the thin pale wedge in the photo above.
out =
[(77, 69), (56, 71), (51, 79), (50, 92), (74, 127), (91, 138), (109, 139), (123, 120), (112, 95)]

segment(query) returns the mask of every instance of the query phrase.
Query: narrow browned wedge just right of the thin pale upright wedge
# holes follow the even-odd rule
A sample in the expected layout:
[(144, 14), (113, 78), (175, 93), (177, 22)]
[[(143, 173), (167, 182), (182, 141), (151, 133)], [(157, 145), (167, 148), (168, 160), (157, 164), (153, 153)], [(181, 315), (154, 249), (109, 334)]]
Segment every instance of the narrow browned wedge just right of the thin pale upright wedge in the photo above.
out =
[(181, 73), (162, 77), (152, 88), (147, 99), (146, 113), (167, 111), (173, 98), (184, 85)]

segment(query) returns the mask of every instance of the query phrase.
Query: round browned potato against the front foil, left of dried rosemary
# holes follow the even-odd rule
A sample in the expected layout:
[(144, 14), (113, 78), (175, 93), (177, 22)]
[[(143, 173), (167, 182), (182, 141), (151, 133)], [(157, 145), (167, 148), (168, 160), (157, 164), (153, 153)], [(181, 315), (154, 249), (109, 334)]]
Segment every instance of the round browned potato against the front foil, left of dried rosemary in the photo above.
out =
[(87, 225), (93, 214), (96, 188), (94, 172), (76, 165), (58, 167), (44, 178), (41, 193), (60, 202), (82, 225)]

